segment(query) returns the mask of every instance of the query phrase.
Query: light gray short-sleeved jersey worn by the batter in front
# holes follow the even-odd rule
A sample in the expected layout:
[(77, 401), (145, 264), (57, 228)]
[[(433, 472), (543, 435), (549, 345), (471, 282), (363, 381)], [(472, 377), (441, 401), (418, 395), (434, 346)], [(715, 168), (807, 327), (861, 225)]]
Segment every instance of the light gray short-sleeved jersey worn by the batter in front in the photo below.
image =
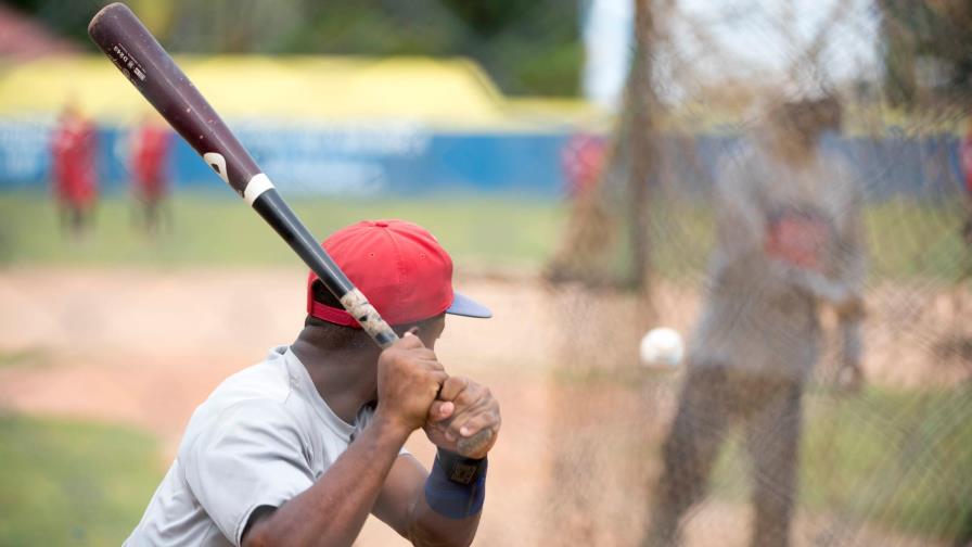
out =
[[(362, 428), (370, 418), (363, 410)], [(222, 382), (192, 415), (176, 461), (125, 543), (240, 545), (251, 513), (309, 488), (355, 433), (286, 346)]]

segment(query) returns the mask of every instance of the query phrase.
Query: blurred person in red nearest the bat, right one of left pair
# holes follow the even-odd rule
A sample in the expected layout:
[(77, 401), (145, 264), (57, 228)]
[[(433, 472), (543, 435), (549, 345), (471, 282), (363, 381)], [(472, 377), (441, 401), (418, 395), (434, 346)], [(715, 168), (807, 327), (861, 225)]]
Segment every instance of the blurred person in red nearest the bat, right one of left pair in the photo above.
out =
[(166, 160), (171, 147), (171, 132), (156, 116), (146, 115), (132, 129), (129, 162), (131, 192), (142, 225), (150, 234), (159, 226), (161, 209), (168, 195)]

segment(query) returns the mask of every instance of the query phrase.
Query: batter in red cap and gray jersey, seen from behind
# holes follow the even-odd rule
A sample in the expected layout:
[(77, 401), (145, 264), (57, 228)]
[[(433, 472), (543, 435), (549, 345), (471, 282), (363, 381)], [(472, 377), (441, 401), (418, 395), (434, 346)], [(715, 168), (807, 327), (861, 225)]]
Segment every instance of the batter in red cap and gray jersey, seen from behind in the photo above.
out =
[[(498, 432), (499, 406), (433, 349), (445, 314), (489, 310), (452, 291), (451, 258), (413, 224), (362, 221), (323, 246), (401, 340), (379, 349), (311, 274), (296, 341), (195, 410), (126, 545), (350, 545), (369, 513), (414, 545), (472, 542), (493, 443), (456, 443)], [(402, 448), (417, 429), (438, 447), (431, 471)]]

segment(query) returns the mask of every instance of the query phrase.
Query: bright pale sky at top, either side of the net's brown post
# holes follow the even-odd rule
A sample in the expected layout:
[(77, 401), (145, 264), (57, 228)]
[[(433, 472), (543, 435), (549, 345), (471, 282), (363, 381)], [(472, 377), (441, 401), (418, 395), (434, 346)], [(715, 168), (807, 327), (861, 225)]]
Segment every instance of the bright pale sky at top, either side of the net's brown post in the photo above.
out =
[[(665, 86), (669, 100), (688, 97), (692, 84), (727, 77), (780, 82), (788, 91), (813, 94), (821, 82), (879, 75), (873, 0), (673, 3), (677, 13), (664, 17), (660, 27), (669, 38), (658, 61), (672, 80)], [(587, 53), (583, 88), (590, 100), (614, 110), (631, 58), (634, 0), (581, 0), (581, 5)], [(800, 62), (801, 52), (821, 31), (827, 47), (818, 62)]]

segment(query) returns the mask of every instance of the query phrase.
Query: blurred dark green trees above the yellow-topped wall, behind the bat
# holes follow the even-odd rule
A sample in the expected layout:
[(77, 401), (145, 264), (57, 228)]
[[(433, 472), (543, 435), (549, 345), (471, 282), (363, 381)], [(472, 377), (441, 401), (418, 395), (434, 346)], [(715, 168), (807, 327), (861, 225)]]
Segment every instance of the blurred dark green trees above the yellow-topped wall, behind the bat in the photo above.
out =
[[(9, 0), (93, 49), (104, 0)], [(174, 52), (464, 55), (517, 94), (576, 94), (578, 7), (565, 0), (128, 0)]]

